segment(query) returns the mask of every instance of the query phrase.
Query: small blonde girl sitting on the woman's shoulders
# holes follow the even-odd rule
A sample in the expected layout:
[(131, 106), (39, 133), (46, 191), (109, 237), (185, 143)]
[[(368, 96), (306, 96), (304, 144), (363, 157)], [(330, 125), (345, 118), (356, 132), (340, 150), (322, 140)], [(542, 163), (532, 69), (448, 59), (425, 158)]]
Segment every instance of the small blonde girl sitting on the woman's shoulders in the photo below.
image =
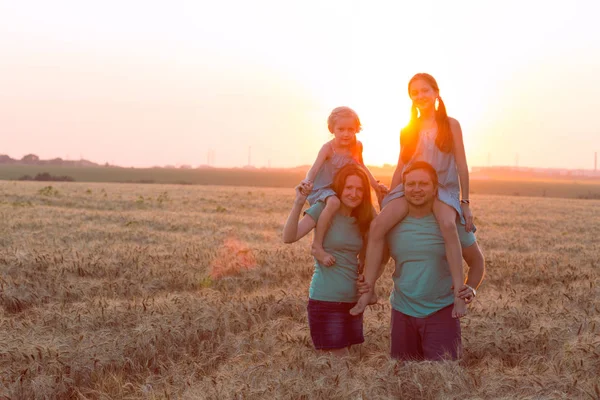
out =
[(331, 188), (336, 172), (345, 165), (358, 164), (367, 173), (369, 183), (375, 189), (378, 198), (387, 192), (387, 188), (380, 185), (364, 165), (362, 143), (356, 140), (356, 134), (362, 128), (358, 114), (349, 107), (337, 107), (329, 115), (327, 127), (334, 139), (321, 147), (317, 160), (308, 170), (302, 184), (303, 187), (312, 184), (312, 190), (307, 197), (311, 206), (319, 201), (325, 203), (325, 209), (317, 222), (312, 254), (322, 265), (330, 267), (335, 264), (335, 257), (323, 249), (323, 238), (333, 215), (340, 208), (340, 200)]

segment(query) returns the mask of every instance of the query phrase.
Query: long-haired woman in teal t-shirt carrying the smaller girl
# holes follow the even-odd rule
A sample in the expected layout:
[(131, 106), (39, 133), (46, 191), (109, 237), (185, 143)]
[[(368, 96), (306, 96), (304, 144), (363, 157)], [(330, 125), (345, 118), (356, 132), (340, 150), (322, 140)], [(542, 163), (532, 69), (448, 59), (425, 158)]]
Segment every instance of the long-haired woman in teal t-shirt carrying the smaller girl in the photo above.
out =
[[(313, 230), (325, 205), (317, 202), (298, 222), (310, 183), (296, 186), (296, 199), (283, 228), (284, 243), (293, 243)], [(334, 177), (333, 190), (340, 207), (327, 230), (323, 248), (335, 258), (332, 266), (315, 259), (308, 298), (308, 324), (317, 350), (337, 356), (349, 354), (353, 344), (364, 342), (362, 315), (349, 310), (358, 300), (356, 283), (359, 254), (373, 219), (369, 179), (358, 165), (346, 165)]]

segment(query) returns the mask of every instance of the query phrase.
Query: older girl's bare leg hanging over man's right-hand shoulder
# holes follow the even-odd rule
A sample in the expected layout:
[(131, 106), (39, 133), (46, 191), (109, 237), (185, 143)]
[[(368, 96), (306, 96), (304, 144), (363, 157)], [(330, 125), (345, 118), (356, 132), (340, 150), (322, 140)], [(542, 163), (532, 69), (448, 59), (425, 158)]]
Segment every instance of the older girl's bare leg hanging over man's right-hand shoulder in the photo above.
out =
[(450, 267), (450, 275), (452, 275), (452, 285), (454, 286), (454, 309), (452, 310), (452, 317), (462, 318), (467, 315), (467, 304), (463, 299), (458, 297), (458, 290), (464, 284), (465, 278), (462, 267), (462, 247), (456, 228), (457, 213), (454, 208), (436, 199), (433, 203), (433, 214), (444, 237), (446, 259)]

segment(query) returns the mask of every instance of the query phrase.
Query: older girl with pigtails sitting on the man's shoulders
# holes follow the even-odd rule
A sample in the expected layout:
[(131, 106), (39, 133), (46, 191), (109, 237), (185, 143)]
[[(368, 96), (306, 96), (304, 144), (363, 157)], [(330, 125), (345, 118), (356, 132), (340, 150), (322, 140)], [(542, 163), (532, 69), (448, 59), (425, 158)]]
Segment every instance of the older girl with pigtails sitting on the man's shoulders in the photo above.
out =
[[(408, 83), (412, 100), (411, 118), (400, 133), (400, 156), (392, 178), (392, 191), (383, 200), (383, 210), (371, 224), (365, 268), (376, 268), (381, 262), (385, 235), (408, 212), (404, 198), (402, 173), (415, 161), (431, 164), (439, 180), (438, 199), (434, 215), (444, 237), (446, 258), (454, 287), (452, 316), (461, 318), (467, 312), (466, 303), (459, 296), (464, 286), (462, 249), (456, 220), (465, 225), (459, 229), (475, 231), (473, 214), (469, 208), (469, 170), (460, 124), (448, 117), (435, 79), (425, 73), (416, 74)], [(459, 185), (460, 182), (460, 185)], [(462, 193), (462, 199), (459, 197)], [(372, 299), (369, 299), (372, 302)], [(367, 300), (359, 300), (366, 305)]]

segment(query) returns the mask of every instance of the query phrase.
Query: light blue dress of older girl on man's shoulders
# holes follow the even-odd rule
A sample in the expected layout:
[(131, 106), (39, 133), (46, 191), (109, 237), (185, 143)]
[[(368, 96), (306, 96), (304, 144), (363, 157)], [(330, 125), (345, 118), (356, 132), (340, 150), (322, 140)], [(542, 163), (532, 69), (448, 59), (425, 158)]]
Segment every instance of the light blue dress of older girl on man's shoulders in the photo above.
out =
[[(454, 208), (460, 217), (460, 223), (464, 225), (465, 218), (460, 208), (460, 184), (454, 153), (445, 153), (436, 146), (436, 133), (437, 131), (433, 131), (432, 135), (428, 135), (424, 131), (419, 132), (419, 142), (415, 154), (404, 166), (402, 173), (416, 161), (425, 161), (431, 164), (438, 174), (438, 199)], [(404, 184), (400, 183), (383, 199), (382, 207), (402, 196), (404, 196)]]

